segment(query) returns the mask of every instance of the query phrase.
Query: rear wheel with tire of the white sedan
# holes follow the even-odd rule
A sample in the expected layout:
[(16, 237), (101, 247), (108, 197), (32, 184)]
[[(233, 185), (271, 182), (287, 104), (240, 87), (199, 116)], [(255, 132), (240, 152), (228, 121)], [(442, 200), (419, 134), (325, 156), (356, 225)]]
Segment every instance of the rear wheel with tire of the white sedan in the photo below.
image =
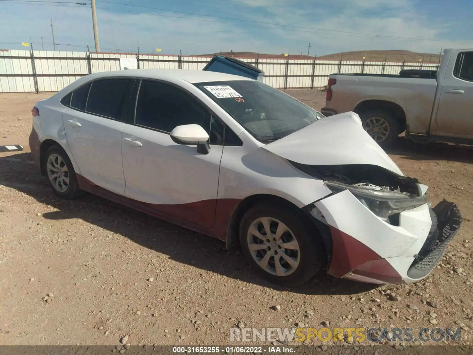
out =
[[(56, 195), (64, 199), (72, 199), (82, 195), (74, 167), (60, 146), (53, 145), (46, 151), (43, 164), (46, 177)], [(59, 176), (57, 174), (58, 166), (61, 168)]]

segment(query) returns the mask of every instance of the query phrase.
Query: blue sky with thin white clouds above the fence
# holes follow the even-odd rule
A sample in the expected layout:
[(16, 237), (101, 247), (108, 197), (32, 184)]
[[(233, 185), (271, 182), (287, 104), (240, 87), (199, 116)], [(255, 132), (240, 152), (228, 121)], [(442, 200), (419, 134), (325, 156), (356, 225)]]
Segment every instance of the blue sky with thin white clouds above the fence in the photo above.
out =
[[(44, 49), (52, 50), (52, 18), (55, 42), (77, 45), (56, 46), (57, 50), (82, 51), (88, 44), (93, 51), (90, 1), (83, 1), (87, 5), (0, 0), (0, 48), (26, 49), (21, 42), (30, 42), (31, 36), (34, 49), (42, 48), (43, 37)], [(156, 53), (161, 48), (161, 53), (169, 54), (220, 49), (307, 54), (308, 42), (311, 55), (372, 49), (438, 53), (441, 48), (473, 47), (471, 0), (96, 0), (96, 4), (102, 52), (135, 52), (138, 41), (140, 52)]]

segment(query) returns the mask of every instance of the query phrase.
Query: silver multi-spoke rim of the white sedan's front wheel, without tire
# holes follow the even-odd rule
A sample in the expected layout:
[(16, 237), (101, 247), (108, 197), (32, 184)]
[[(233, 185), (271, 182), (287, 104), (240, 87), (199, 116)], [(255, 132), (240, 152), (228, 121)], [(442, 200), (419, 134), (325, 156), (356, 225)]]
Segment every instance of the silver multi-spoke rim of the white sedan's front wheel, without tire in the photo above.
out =
[(254, 220), (247, 234), (248, 249), (256, 263), (266, 272), (287, 276), (296, 271), (300, 248), (292, 231), (272, 217)]

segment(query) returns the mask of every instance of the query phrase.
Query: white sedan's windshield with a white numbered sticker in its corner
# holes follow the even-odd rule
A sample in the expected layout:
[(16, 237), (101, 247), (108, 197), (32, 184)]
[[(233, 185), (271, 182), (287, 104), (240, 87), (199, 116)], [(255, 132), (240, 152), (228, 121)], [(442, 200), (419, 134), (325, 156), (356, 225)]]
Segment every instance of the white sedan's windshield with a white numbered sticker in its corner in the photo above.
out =
[(256, 80), (194, 84), (258, 141), (269, 143), (324, 117), (295, 98)]

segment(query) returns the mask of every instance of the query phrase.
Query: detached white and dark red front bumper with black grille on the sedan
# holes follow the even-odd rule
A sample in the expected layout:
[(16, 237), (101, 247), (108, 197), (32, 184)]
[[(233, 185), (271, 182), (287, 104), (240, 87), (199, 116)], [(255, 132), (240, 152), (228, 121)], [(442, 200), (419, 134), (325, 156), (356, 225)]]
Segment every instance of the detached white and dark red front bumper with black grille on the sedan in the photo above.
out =
[[(399, 225), (384, 222), (349, 191), (315, 203), (311, 213), (330, 227), (333, 241), (328, 273), (375, 284), (418, 281), (432, 271), (461, 225), (455, 204), (442, 201), (399, 214)], [(318, 214), (318, 215), (317, 215)]]

